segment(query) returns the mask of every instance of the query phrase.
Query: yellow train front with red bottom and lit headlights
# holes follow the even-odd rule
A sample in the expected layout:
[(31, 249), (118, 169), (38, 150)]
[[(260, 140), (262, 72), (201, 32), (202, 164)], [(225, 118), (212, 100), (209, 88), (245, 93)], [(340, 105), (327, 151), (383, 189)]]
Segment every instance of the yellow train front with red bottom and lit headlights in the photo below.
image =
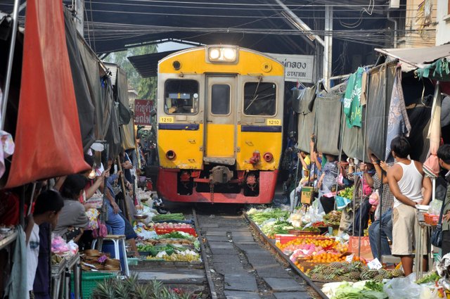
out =
[(283, 134), (284, 68), (237, 46), (158, 64), (158, 193), (167, 201), (271, 203)]

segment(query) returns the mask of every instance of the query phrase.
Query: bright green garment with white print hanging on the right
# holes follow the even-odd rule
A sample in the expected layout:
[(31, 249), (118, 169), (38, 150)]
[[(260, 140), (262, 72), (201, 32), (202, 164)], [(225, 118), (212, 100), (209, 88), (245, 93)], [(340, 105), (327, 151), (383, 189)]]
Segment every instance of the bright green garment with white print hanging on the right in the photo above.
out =
[(363, 108), (361, 106), (361, 86), (364, 68), (358, 68), (350, 75), (345, 89), (344, 114), (348, 127), (361, 127)]

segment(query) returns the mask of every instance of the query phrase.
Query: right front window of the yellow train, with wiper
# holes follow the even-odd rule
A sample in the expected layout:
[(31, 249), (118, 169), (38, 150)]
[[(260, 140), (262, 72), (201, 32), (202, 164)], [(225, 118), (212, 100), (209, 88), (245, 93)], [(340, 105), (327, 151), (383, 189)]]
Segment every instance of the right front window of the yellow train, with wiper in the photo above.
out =
[(247, 82), (244, 85), (245, 115), (275, 115), (276, 84)]

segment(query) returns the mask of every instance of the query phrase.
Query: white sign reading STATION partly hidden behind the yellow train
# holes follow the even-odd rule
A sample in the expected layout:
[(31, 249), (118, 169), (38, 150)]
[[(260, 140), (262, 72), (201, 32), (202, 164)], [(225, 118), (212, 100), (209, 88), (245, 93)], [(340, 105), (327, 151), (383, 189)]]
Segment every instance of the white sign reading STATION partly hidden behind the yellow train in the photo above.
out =
[(267, 53), (267, 55), (283, 63), (285, 71), (285, 81), (314, 83), (312, 76), (314, 70), (313, 55), (287, 55), (273, 53)]

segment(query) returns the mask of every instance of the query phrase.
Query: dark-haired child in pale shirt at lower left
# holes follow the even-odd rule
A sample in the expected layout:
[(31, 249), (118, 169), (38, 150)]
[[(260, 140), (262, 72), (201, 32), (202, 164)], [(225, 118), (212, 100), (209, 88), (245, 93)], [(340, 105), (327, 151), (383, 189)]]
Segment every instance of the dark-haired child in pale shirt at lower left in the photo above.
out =
[(34, 276), (36, 275), (39, 257), (39, 225), (44, 223), (56, 227), (59, 212), (63, 208), (63, 198), (58, 191), (47, 190), (37, 196), (34, 212), (29, 217), (25, 230), (27, 242), (27, 291), (32, 295)]

